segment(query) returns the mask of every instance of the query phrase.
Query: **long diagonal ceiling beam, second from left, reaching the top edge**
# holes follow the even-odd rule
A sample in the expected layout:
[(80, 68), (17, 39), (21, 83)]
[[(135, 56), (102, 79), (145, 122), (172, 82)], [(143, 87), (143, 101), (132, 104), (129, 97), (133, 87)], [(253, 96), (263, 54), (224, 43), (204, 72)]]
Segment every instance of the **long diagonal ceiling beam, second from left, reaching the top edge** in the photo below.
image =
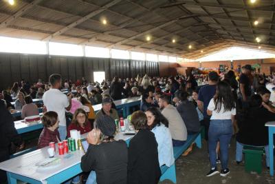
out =
[(58, 30), (58, 31), (54, 32), (54, 34), (50, 34), (48, 37), (43, 39), (43, 41), (50, 41), (54, 37), (56, 37), (60, 34), (63, 34), (67, 30), (70, 30), (71, 28), (74, 28), (76, 25), (79, 25), (80, 23), (83, 23), (84, 21), (87, 21), (88, 19), (91, 19), (91, 17), (95, 17), (97, 14), (100, 14), (101, 12), (106, 10), (107, 8), (110, 8), (111, 6), (114, 6), (115, 4), (119, 3), (120, 1), (121, 0), (113, 0), (110, 3), (107, 3), (106, 5), (102, 6), (100, 9), (98, 9), (96, 11), (93, 11), (93, 12), (90, 12), (85, 17), (81, 17), (77, 21), (74, 21), (73, 23), (70, 23), (69, 25), (67, 25), (65, 28), (62, 28), (61, 30)]

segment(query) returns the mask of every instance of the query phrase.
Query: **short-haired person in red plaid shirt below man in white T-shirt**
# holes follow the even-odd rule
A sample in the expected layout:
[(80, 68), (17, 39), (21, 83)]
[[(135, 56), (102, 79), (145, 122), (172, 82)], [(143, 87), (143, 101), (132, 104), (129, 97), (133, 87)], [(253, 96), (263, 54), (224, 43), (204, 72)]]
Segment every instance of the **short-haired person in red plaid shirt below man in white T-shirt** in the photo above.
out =
[(39, 136), (39, 143), (37, 148), (46, 147), (50, 142), (58, 143), (60, 142), (60, 136), (58, 132), (58, 115), (54, 111), (46, 112), (42, 116), (42, 123), (44, 128)]

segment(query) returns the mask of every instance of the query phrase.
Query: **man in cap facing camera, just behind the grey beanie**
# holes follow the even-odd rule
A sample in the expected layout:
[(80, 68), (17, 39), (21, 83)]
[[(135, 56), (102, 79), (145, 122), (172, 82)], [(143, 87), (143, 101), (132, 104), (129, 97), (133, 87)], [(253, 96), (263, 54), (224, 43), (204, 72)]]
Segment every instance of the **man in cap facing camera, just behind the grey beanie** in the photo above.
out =
[(118, 112), (111, 108), (112, 102), (111, 98), (104, 98), (102, 100), (102, 108), (96, 113), (96, 119), (105, 114), (111, 116), (113, 119), (119, 119)]

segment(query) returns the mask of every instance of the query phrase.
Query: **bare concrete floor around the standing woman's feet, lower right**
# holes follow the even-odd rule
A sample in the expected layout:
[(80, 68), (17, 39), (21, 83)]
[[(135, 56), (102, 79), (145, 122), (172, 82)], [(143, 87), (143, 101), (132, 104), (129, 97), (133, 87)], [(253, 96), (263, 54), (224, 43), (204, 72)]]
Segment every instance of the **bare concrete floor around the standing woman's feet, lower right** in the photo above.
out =
[[(199, 183), (222, 183), (222, 184), (272, 184), (275, 183), (275, 176), (270, 176), (269, 170), (265, 167), (265, 159), (263, 157), (263, 172), (261, 174), (256, 174), (254, 172), (245, 172), (244, 163), (236, 165), (235, 162), (235, 150), (236, 141), (232, 139), (230, 149), (229, 149), (229, 161), (228, 167), (230, 169), (230, 174), (228, 176), (219, 176), (216, 174), (214, 176), (206, 177), (206, 174), (210, 170), (210, 162), (208, 160), (207, 143), (203, 140), (202, 148), (194, 147), (192, 152), (188, 156), (181, 156), (176, 162), (176, 174), (177, 183), (186, 184), (199, 184)], [(218, 170), (221, 170), (221, 165), (218, 164)], [(170, 181), (160, 182), (172, 183)]]

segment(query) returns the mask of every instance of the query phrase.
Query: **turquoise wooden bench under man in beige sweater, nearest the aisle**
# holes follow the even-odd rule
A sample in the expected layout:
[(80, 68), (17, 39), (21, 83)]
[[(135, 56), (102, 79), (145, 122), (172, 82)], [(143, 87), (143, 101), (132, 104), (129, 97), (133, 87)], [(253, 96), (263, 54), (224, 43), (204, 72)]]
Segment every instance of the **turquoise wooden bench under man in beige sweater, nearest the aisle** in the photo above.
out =
[[(201, 127), (201, 130), (202, 130), (202, 127)], [(197, 147), (201, 148), (201, 131), (198, 132), (197, 134), (188, 135), (186, 143), (184, 143), (184, 145), (173, 147), (175, 161), (179, 159), (181, 154), (183, 154), (185, 150), (187, 150), (188, 147), (190, 147), (190, 145), (192, 145), (192, 143), (194, 142), (196, 143)], [(164, 181), (168, 179), (173, 183), (177, 183), (175, 163), (170, 167), (167, 167), (166, 165), (162, 165), (160, 169), (162, 170), (162, 176), (160, 176), (159, 181)]]

